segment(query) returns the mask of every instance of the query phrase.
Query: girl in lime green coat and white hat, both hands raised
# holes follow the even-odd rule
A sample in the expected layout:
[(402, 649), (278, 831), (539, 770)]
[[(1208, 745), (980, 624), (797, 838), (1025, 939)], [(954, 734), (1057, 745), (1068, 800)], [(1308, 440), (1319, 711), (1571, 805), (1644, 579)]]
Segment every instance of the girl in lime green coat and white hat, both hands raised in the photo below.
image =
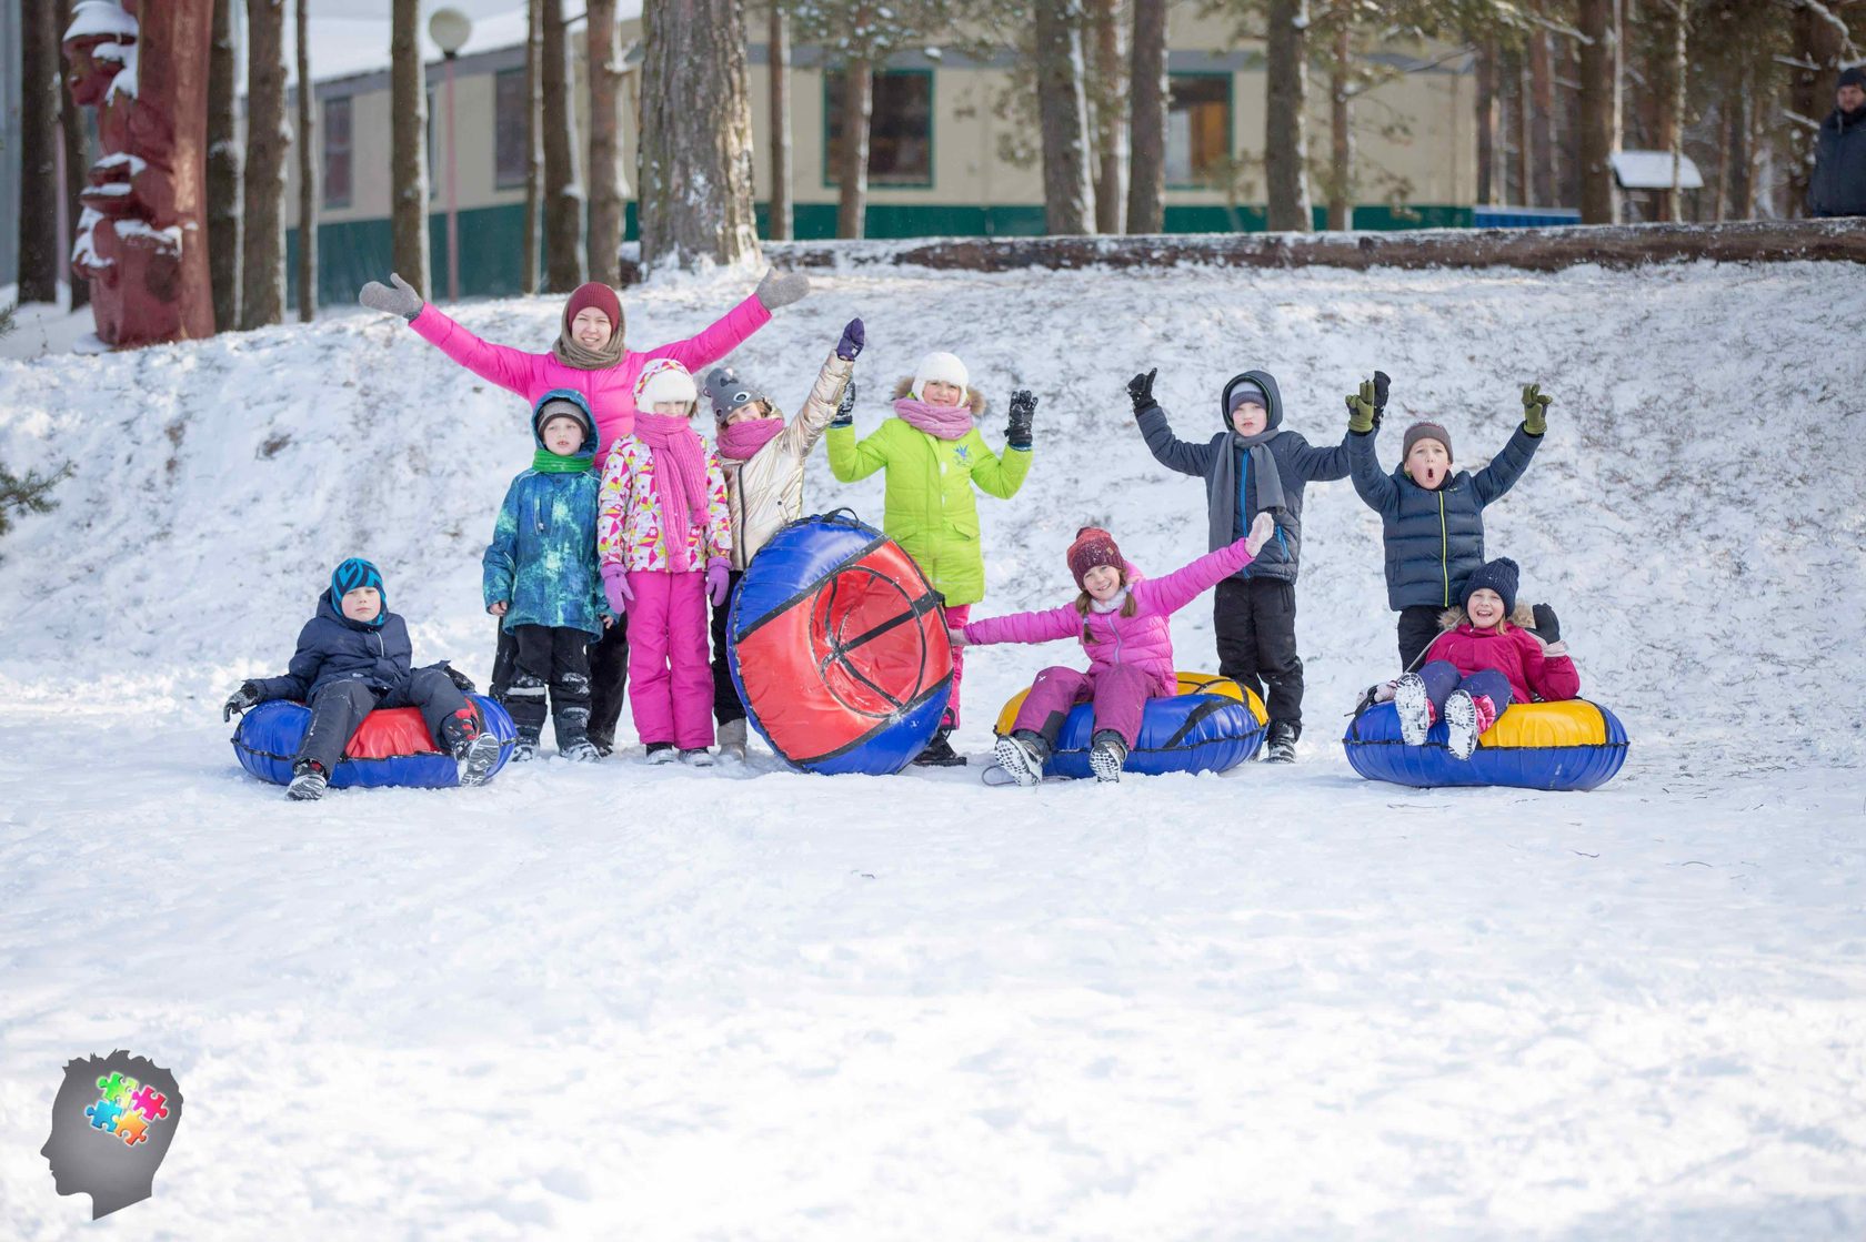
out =
[[(985, 412), (985, 399), (972, 392), (965, 364), (948, 352), (920, 360), (911, 380), (894, 392), (894, 418), (856, 442), (853, 414), (829, 425), (829, 468), (843, 483), (866, 479), (886, 468), (886, 513), (881, 528), (901, 545), (946, 600), (946, 625), (965, 625), (972, 604), (985, 599), (985, 558), (978, 546), (978, 504), (972, 485), (1010, 500), (1030, 474), (1030, 423), (1037, 399), (1030, 390), (1011, 393), (1006, 449), (998, 457), (978, 435), (972, 420)], [(843, 405), (843, 410), (849, 407)], [(961, 765), (952, 748), (959, 727), (959, 679), (965, 653), (952, 653), (952, 699), (939, 733), (914, 763)]]

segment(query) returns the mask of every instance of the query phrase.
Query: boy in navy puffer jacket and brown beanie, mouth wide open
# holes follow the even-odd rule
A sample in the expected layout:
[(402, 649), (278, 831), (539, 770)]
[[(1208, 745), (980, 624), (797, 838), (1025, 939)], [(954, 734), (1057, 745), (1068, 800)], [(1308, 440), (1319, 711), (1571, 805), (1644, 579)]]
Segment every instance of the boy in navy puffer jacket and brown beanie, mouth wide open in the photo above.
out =
[(1452, 474), (1452, 435), (1413, 423), (1400, 466), (1381, 474), (1373, 438), (1386, 407), (1386, 375), (1347, 397), (1347, 453), (1355, 490), (1381, 515), (1386, 543), (1386, 606), (1400, 614), (1400, 666), (1413, 668), (1439, 636), (1439, 614), (1465, 599), (1465, 578), (1483, 565), (1483, 507), (1523, 477), (1549, 429), (1551, 397), (1523, 388), (1523, 425), (1489, 466)]

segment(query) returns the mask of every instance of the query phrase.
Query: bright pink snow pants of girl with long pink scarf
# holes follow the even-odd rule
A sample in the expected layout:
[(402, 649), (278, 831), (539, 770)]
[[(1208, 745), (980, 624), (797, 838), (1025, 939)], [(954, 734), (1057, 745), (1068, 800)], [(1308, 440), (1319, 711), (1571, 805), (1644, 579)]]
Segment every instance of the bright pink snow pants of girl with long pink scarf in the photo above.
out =
[(629, 705), (644, 744), (713, 744), (705, 574), (629, 571)]

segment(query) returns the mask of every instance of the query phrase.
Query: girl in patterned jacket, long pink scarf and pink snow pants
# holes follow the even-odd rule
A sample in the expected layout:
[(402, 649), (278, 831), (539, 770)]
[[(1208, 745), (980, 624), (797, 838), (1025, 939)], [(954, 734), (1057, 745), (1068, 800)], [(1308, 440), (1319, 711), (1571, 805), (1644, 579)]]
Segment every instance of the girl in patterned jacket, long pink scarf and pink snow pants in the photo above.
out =
[(709, 766), (713, 669), (707, 600), (726, 600), (731, 522), (718, 453), (690, 425), (700, 392), (655, 358), (634, 382), (634, 431), (603, 466), (595, 552), (608, 606), (629, 617), (634, 731), (649, 763)]

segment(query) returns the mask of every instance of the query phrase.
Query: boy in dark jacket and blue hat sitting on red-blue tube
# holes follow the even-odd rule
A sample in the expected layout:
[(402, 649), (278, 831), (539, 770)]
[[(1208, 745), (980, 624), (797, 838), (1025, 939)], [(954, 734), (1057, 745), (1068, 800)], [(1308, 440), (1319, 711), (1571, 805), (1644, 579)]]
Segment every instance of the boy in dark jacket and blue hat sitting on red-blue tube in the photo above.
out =
[(291, 757), (285, 787), (285, 796), (299, 802), (323, 796), (351, 733), (377, 707), (418, 707), (427, 731), (459, 761), (461, 785), (483, 783), (498, 761), (498, 738), (480, 727), (453, 669), (411, 668), (412, 656), (409, 627), (388, 610), (383, 574), (353, 556), (317, 597), (317, 615), (299, 630), (285, 675), (241, 683), (222, 720), (269, 699), (310, 705), (312, 724)]

